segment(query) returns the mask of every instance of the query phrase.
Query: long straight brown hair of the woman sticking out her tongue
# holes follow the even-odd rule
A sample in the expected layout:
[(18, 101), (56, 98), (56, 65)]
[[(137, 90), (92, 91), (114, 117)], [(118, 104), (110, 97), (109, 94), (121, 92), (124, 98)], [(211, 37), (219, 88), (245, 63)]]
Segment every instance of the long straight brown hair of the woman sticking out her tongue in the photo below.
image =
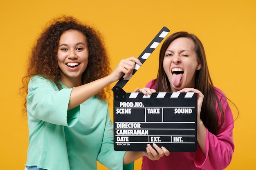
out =
[[(211, 80), (209, 69), (207, 66), (204, 47), (202, 45), (202, 42), (197, 38), (197, 36), (181, 31), (173, 33), (164, 41), (159, 53), (159, 69), (157, 73), (157, 79), (155, 79), (152, 86), (157, 86), (157, 92), (171, 92), (170, 82), (168, 81), (168, 77), (164, 72), (163, 68), (164, 55), (166, 49), (171, 44), (171, 42), (181, 37), (190, 38), (195, 43), (195, 52), (197, 54), (197, 59), (202, 66), (201, 69), (197, 70), (195, 73), (195, 88), (201, 91), (204, 95), (200, 118), (203, 121), (204, 126), (207, 127), (211, 133), (216, 135), (220, 130), (221, 126), (223, 125), (223, 122), (225, 120), (225, 113), (222, 105), (220, 104), (220, 100), (216, 95), (216, 91), (213, 88), (213, 82)], [(221, 113), (220, 125), (218, 124), (218, 117), (216, 114), (216, 102)]]

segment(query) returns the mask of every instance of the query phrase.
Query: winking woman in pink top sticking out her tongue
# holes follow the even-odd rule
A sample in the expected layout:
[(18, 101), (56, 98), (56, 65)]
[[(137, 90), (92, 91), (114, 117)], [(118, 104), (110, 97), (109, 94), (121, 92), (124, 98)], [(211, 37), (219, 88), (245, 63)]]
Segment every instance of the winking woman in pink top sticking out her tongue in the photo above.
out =
[(229, 165), (234, 119), (225, 93), (213, 86), (197, 36), (183, 31), (170, 35), (160, 49), (157, 78), (135, 91), (197, 94), (196, 152), (171, 152), (156, 161), (143, 157), (142, 170), (223, 170)]

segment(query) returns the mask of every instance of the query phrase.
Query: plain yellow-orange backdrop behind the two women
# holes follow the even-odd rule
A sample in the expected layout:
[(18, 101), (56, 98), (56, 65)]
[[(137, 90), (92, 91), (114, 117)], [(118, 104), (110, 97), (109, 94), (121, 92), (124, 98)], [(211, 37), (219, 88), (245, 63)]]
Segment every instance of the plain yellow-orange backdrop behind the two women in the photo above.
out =
[[(24, 169), (28, 129), (18, 89), (31, 45), (45, 23), (61, 14), (86, 20), (104, 35), (112, 68), (123, 58), (138, 57), (163, 26), (171, 30), (168, 35), (176, 31), (197, 35), (214, 85), (240, 111), (234, 128), (236, 148), (227, 170), (256, 169), (254, 0), (1, 0), (1, 169)], [(158, 53), (159, 47), (126, 84), (126, 92), (156, 77)], [(112, 110), (111, 103), (111, 116)], [(140, 165), (141, 159), (135, 161), (136, 170)], [(106, 169), (99, 164), (99, 170)]]

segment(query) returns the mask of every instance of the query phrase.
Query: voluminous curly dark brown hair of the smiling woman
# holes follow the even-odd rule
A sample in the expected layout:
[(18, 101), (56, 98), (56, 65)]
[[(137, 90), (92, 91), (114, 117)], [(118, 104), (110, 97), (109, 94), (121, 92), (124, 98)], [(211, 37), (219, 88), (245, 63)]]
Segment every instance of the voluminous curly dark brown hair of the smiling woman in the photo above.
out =
[[(31, 49), (27, 74), (22, 78), (23, 86), (20, 88), (21, 93), (27, 95), (29, 79), (35, 75), (52, 80), (61, 89), (58, 82), (61, 79), (62, 71), (58, 66), (57, 51), (60, 37), (67, 30), (80, 31), (85, 35), (88, 42), (89, 62), (82, 74), (82, 83), (90, 83), (106, 77), (110, 73), (111, 68), (108, 53), (99, 31), (72, 16), (65, 15), (60, 18), (54, 18), (47, 25)], [(107, 86), (97, 93), (96, 97), (106, 100), (106, 92), (109, 89), (110, 86)], [(24, 113), (27, 111), (26, 102), (27, 99), (25, 98), (25, 109), (22, 110)]]

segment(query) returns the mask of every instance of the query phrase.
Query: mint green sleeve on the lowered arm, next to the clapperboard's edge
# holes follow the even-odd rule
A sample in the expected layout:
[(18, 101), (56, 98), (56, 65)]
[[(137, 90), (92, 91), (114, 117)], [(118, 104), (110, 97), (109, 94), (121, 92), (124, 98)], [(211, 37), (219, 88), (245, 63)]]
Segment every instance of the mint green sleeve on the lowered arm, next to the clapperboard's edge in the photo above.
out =
[(108, 110), (101, 150), (97, 160), (110, 170), (133, 170), (134, 162), (124, 165), (124, 151), (115, 151), (113, 123)]

